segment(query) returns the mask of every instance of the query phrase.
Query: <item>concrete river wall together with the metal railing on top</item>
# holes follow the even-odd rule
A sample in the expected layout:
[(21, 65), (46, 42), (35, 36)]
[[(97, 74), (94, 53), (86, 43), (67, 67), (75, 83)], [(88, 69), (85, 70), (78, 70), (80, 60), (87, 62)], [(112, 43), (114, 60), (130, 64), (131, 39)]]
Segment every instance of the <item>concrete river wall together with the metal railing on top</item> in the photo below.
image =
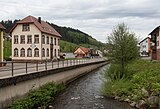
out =
[(29, 90), (48, 82), (70, 82), (106, 63), (102, 58), (44, 63), (9, 62), (5, 67), (0, 67), (0, 108), (10, 104), (15, 97), (25, 95)]

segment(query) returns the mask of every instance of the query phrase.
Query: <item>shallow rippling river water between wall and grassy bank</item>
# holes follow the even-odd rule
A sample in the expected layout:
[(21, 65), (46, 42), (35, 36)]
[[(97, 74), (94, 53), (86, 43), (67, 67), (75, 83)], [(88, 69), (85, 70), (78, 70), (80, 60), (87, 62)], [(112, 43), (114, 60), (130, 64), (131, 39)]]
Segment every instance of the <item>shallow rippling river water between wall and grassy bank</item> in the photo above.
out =
[(127, 103), (101, 95), (102, 72), (106, 67), (70, 83), (67, 89), (55, 98), (53, 109), (134, 109)]

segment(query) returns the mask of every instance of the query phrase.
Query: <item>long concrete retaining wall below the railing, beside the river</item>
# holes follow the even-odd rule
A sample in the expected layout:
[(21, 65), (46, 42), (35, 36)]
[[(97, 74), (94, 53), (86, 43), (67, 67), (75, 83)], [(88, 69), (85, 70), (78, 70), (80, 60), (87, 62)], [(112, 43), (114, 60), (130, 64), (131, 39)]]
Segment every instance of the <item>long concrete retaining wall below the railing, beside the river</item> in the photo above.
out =
[(0, 109), (12, 103), (16, 97), (24, 96), (30, 90), (38, 88), (48, 82), (66, 83), (105, 64), (105, 61), (96, 62), (1, 79)]

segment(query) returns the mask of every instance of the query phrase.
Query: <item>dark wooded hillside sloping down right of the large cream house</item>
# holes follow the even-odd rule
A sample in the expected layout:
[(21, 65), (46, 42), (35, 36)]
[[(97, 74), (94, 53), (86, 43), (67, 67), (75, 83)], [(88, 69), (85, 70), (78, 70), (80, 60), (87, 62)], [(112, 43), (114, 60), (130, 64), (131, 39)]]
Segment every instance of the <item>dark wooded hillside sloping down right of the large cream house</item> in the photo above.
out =
[(75, 43), (78, 45), (83, 45), (83, 44), (93, 45), (98, 48), (101, 48), (104, 46), (103, 43), (97, 41), (96, 39), (92, 38), (90, 35), (78, 29), (73, 29), (70, 27), (60, 27), (53, 23), (49, 23), (49, 24), (63, 36), (62, 40), (64, 41)]

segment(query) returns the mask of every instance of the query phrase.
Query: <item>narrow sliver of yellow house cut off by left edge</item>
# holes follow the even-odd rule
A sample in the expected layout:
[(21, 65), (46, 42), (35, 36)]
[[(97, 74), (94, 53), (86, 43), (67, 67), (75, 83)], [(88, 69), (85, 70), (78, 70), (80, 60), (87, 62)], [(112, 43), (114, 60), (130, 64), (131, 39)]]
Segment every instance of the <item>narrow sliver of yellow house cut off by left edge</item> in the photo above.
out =
[[(5, 27), (0, 24), (0, 62), (3, 62), (3, 34), (4, 34)], [(0, 66), (3, 64), (0, 63)]]

